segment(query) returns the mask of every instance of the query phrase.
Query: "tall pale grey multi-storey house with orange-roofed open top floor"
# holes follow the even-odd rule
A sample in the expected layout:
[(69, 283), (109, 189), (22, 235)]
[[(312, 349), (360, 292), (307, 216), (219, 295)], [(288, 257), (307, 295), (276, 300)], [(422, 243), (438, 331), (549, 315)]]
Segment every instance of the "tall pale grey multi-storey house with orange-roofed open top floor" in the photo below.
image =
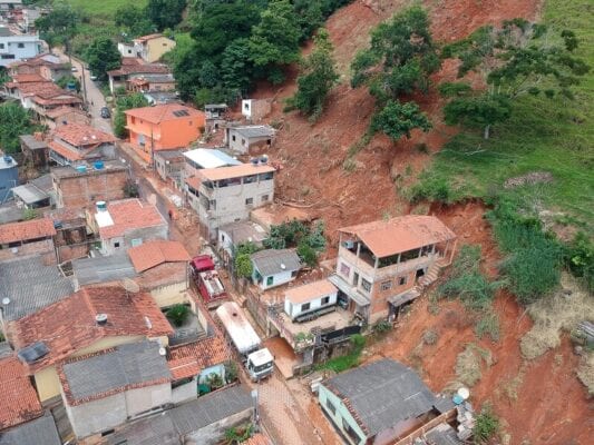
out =
[(242, 164), (196, 170), (186, 178), (187, 199), (204, 236), (215, 240), (218, 227), (246, 220), (253, 208), (272, 202), (274, 172), (270, 165)]

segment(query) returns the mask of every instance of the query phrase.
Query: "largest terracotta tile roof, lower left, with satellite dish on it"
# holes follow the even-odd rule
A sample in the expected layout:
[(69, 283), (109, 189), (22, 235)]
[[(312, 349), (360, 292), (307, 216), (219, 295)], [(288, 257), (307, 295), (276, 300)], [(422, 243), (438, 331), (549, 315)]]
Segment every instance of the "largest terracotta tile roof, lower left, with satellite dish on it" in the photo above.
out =
[[(107, 315), (100, 326), (95, 316)], [(106, 337), (159, 337), (173, 334), (169, 322), (150, 295), (128, 294), (120, 286), (89, 287), (51, 306), (10, 323), (17, 350), (43, 342), (49, 353), (26, 365), (29, 373), (51, 366)]]

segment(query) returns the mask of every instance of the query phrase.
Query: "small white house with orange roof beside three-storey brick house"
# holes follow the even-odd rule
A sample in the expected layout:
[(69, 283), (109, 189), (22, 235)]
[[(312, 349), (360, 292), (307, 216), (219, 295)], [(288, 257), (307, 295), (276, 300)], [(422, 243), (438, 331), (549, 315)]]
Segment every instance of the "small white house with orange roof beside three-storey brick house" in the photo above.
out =
[(328, 279), (293, 287), (284, 293), (284, 312), (295, 318), (312, 314), (337, 304), (338, 288)]

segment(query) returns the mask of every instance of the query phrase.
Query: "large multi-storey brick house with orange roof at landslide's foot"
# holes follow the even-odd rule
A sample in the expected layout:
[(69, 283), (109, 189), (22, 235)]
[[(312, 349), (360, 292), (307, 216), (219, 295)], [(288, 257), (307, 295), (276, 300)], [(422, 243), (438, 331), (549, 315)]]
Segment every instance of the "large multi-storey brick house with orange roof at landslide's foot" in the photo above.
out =
[(408, 215), (339, 229), (330, 280), (349, 309), (369, 323), (398, 317), (451, 263), (456, 235), (438, 218)]

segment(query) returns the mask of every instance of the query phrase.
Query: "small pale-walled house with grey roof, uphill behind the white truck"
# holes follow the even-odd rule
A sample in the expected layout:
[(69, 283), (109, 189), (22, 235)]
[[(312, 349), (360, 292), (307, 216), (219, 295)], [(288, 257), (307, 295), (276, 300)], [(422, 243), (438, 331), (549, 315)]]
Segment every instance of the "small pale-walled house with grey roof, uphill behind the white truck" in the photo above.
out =
[(301, 260), (292, 249), (266, 249), (252, 254), (252, 281), (262, 290), (292, 281), (301, 269)]

